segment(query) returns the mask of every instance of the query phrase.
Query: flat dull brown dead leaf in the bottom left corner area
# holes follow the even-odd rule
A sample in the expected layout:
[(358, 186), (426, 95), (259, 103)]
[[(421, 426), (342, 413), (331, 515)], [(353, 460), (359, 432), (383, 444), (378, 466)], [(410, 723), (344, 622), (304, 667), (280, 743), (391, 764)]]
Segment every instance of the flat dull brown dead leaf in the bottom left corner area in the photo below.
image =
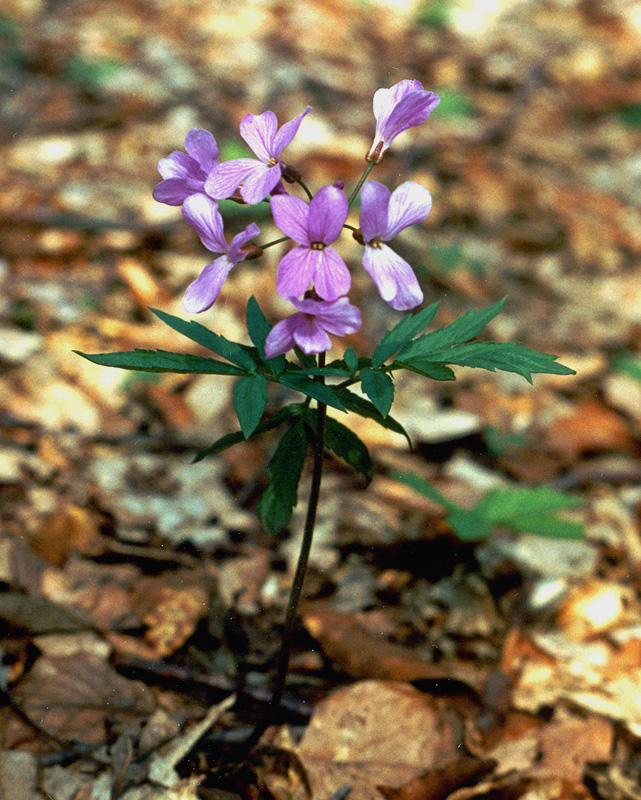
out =
[(133, 724), (154, 711), (154, 699), (138, 681), (92, 655), (39, 658), (14, 690), (29, 719), (63, 741), (98, 744), (106, 725)]

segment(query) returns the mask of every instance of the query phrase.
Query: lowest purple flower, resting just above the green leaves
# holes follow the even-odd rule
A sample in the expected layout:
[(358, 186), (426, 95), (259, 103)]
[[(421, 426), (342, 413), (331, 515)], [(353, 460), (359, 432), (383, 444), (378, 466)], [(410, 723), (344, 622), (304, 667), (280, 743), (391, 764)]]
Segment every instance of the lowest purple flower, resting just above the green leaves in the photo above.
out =
[(345, 336), (346, 333), (356, 333), (362, 325), (361, 312), (350, 305), (346, 297), (332, 302), (311, 299), (293, 299), (291, 302), (299, 313), (271, 329), (265, 342), (267, 358), (280, 356), (294, 345), (307, 355), (325, 352), (332, 346), (328, 332)]

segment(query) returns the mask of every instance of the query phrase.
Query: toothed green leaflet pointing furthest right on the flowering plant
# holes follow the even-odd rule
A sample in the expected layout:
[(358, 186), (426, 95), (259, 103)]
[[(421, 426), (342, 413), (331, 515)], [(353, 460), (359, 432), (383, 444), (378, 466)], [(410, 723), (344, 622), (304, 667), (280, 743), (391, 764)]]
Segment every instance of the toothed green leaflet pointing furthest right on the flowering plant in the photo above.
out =
[(408, 359), (407, 363), (419, 368), (426, 368), (434, 362), (446, 362), (461, 367), (480, 367), (490, 372), (499, 369), (522, 375), (532, 383), (533, 373), (575, 374), (573, 369), (557, 363), (557, 358), (558, 356), (530, 350), (516, 342), (469, 342), (432, 352), (429, 357), (415, 356)]

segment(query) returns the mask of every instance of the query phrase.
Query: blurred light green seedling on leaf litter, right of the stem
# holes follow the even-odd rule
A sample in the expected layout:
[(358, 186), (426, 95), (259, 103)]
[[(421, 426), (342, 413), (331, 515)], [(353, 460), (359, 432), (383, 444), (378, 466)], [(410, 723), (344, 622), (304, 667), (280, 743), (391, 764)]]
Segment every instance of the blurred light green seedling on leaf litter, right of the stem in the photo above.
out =
[(555, 539), (581, 539), (584, 535), (580, 522), (558, 516), (561, 511), (581, 505), (580, 498), (557, 492), (548, 486), (493, 489), (474, 508), (466, 509), (448, 500), (435, 486), (418, 475), (402, 472), (394, 477), (443, 506), (447, 524), (464, 542), (481, 541), (495, 528)]

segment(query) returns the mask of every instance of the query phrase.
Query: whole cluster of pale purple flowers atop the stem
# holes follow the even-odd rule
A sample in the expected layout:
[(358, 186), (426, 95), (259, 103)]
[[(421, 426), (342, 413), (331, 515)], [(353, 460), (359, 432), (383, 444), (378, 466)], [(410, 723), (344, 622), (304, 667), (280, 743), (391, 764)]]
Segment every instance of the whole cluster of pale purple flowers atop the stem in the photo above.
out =
[[(361, 327), (360, 311), (347, 298), (350, 272), (333, 247), (345, 227), (351, 228), (354, 238), (363, 245), (363, 267), (383, 300), (399, 311), (419, 305), (423, 293), (414, 271), (387, 242), (427, 217), (432, 205), (430, 193), (413, 182), (390, 192), (381, 183), (365, 179), (392, 141), (403, 131), (425, 122), (438, 102), (438, 96), (423, 89), (418, 81), (400, 81), (375, 93), (376, 132), (366, 155), (367, 170), (357, 187), (361, 199), (359, 229), (346, 224), (356, 192), (348, 200), (339, 182), (312, 196), (297, 170), (281, 160), (284, 149), (311, 111), (309, 106), (280, 128), (272, 111), (247, 114), (241, 121), (240, 135), (256, 158), (221, 163), (212, 134), (198, 128), (190, 131), (185, 139), (186, 153), (174, 151), (158, 164), (163, 180), (153, 193), (161, 203), (181, 205), (183, 217), (201, 242), (219, 254), (187, 288), (185, 310), (193, 314), (206, 311), (235, 264), (282, 241), (262, 248), (252, 244), (250, 240), (260, 235), (259, 227), (252, 223), (229, 243), (217, 202), (224, 198), (250, 205), (269, 202), (276, 227), (296, 245), (278, 265), (276, 288), (297, 313), (271, 330), (265, 346), (269, 358), (294, 346), (307, 354), (324, 352), (331, 347), (328, 333), (344, 336)], [(300, 184), (308, 200), (289, 194), (284, 182)]]

